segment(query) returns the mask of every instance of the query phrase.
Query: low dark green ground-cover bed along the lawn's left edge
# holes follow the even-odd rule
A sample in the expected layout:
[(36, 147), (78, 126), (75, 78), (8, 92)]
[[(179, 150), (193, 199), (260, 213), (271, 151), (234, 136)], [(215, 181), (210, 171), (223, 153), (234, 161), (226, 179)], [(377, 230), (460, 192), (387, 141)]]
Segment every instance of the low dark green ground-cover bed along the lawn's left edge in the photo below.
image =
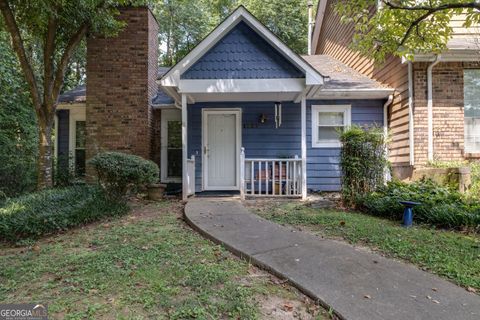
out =
[(38, 238), (127, 212), (98, 186), (72, 186), (7, 200), (0, 208), (0, 240)]

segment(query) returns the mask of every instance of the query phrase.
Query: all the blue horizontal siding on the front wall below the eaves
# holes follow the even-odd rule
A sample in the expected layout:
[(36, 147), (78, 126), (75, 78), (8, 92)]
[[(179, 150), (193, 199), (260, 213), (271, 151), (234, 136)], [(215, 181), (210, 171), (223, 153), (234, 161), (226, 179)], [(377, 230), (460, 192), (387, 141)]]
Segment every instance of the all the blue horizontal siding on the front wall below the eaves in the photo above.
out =
[[(313, 191), (340, 189), (339, 148), (312, 148), (311, 106), (349, 104), (352, 123), (383, 125), (382, 100), (315, 100), (307, 102), (307, 188)], [(196, 103), (188, 106), (188, 156), (195, 156), (196, 190), (202, 190), (202, 109), (242, 110), (242, 146), (246, 158), (301, 157), (300, 104), (282, 103), (282, 126), (275, 129), (274, 102)], [(259, 123), (260, 115), (267, 117)]]

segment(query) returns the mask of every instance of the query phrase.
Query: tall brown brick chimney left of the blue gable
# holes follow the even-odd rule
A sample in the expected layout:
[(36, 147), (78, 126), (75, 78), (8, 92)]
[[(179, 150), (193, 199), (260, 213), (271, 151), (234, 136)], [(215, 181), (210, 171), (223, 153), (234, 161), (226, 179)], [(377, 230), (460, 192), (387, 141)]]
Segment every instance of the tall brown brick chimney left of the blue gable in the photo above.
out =
[(120, 12), (127, 25), (117, 37), (87, 38), (87, 159), (102, 151), (151, 157), (158, 24), (147, 7)]

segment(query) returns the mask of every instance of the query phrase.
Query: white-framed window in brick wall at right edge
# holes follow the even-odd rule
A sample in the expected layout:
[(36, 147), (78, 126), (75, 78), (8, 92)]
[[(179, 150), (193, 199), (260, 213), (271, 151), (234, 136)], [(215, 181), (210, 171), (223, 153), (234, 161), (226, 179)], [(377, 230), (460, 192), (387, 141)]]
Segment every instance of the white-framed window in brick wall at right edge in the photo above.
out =
[(480, 69), (463, 70), (465, 152), (480, 152)]

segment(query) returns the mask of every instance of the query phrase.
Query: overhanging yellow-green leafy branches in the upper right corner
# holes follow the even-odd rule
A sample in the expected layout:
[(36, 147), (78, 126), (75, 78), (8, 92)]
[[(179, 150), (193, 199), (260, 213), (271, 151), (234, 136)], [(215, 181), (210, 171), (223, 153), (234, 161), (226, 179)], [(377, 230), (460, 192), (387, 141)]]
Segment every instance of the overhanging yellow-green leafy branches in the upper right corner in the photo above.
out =
[(480, 23), (479, 1), (347, 0), (336, 2), (335, 10), (354, 24), (354, 48), (377, 61), (445, 50), (456, 15), (466, 28)]

